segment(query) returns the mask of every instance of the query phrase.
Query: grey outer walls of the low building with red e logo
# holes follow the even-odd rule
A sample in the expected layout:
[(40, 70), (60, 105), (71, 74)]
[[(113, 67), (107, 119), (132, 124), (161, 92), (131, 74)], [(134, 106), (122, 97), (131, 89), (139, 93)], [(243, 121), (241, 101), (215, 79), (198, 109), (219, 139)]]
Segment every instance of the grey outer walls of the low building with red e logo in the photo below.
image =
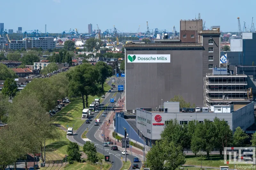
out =
[[(166, 107), (164, 102), (164, 107)], [(179, 102), (175, 102), (179, 106)], [(214, 113), (214, 112), (148, 112), (142, 109), (136, 109), (136, 127), (142, 131), (143, 135), (147, 138), (147, 143), (154, 143), (155, 140), (160, 139), (161, 132), (164, 130), (166, 121), (176, 119), (179, 124), (188, 123), (189, 121), (197, 120), (203, 122), (204, 119), (213, 121), (215, 117), (220, 120), (224, 119), (228, 122), (230, 129), (234, 132), (235, 129), (240, 126), (244, 131), (254, 123), (254, 106), (253, 102), (232, 102), (231, 105), (239, 105), (238, 109), (231, 113)], [(155, 117), (161, 116), (160, 122), (156, 122)], [(150, 122), (149, 122), (150, 120)], [(150, 131), (149, 131), (150, 130)]]

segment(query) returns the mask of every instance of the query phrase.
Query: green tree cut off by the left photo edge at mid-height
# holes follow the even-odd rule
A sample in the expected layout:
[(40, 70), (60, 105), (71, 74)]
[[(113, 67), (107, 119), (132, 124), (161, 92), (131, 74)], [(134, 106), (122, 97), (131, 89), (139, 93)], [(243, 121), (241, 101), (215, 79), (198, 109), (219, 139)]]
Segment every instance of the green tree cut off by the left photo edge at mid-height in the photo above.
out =
[(7, 123), (7, 115), (9, 111), (10, 102), (8, 101), (8, 96), (0, 92), (0, 120)]

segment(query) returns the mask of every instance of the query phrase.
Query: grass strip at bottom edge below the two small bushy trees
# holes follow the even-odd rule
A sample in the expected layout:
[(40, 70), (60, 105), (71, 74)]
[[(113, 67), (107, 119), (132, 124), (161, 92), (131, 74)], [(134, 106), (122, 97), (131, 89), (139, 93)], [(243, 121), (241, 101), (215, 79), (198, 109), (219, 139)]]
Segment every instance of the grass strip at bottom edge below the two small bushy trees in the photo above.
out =
[[(102, 162), (102, 170), (108, 170), (111, 164), (107, 164)], [(78, 170), (78, 169), (86, 169), (86, 170), (100, 170), (100, 164), (90, 164), (89, 162), (68, 164), (63, 169), (65, 170)]]

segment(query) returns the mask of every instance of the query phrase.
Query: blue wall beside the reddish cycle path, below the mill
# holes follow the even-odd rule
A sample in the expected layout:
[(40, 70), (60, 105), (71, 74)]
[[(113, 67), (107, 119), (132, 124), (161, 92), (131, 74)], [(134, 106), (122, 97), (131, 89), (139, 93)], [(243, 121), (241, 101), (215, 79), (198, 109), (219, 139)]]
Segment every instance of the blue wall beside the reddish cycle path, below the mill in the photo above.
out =
[(138, 136), (138, 132), (135, 132), (124, 118), (116, 116), (116, 132), (124, 136), (124, 128), (126, 128), (129, 138), (143, 144), (143, 140)]

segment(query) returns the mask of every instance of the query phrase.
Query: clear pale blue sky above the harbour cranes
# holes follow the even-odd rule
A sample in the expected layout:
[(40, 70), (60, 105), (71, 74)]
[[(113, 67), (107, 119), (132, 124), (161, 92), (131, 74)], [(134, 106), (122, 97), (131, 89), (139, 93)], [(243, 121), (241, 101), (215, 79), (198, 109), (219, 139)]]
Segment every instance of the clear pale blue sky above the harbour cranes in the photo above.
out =
[(180, 19), (194, 19), (200, 12), (207, 28), (220, 26), (223, 32), (235, 32), (237, 17), (242, 30), (244, 21), (247, 28), (252, 17), (256, 21), (255, 5), (252, 0), (5, 0), (1, 2), (0, 23), (14, 32), (18, 26), (23, 32), (35, 29), (44, 32), (47, 24), (49, 33), (70, 28), (85, 33), (90, 23), (92, 29), (97, 29), (96, 24), (102, 31), (115, 25), (121, 32), (137, 32), (140, 25), (140, 32), (144, 32), (148, 21), (149, 29), (172, 31), (174, 25), (179, 31)]

